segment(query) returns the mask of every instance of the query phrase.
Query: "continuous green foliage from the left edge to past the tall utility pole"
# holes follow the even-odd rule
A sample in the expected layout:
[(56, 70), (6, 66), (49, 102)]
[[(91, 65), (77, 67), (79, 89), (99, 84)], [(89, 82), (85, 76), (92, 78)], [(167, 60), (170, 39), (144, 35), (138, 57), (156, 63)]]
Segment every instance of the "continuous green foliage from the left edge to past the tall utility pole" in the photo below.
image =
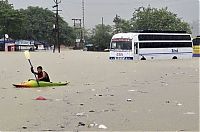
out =
[[(15, 10), (6, 1), (0, 1), (0, 38), (9, 34), (13, 39), (31, 39), (55, 43), (55, 13), (40, 7), (28, 7)], [(75, 33), (73, 28), (59, 16), (60, 44), (74, 43)]]

